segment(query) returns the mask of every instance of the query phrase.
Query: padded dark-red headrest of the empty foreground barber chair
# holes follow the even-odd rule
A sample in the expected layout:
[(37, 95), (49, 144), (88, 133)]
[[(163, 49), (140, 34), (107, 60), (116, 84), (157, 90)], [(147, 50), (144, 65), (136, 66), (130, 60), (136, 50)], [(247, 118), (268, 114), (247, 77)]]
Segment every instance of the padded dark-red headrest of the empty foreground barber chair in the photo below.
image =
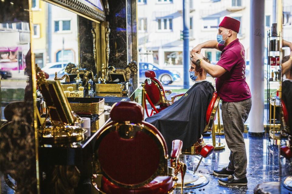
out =
[(110, 118), (116, 122), (138, 123), (144, 120), (144, 109), (137, 102), (116, 102), (110, 112)]

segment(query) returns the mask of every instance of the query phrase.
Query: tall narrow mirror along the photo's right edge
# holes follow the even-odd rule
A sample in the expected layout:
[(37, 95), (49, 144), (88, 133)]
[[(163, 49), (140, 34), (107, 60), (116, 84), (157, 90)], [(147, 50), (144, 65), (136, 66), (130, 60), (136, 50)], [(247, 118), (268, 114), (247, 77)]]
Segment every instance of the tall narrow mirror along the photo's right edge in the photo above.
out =
[(283, 60), (282, 60), (282, 130), (283, 132), (287, 132), (288, 138), (286, 140), (286, 144), (281, 147), (281, 155), (284, 156), (281, 158), (281, 171), (283, 177), (281, 182), (283, 183), (283, 188), (285, 191), (292, 190), (292, 166), (291, 163), (287, 161), (291, 159), (291, 155), (289, 154), (292, 150), (292, 4), (289, 0), (283, 0)]

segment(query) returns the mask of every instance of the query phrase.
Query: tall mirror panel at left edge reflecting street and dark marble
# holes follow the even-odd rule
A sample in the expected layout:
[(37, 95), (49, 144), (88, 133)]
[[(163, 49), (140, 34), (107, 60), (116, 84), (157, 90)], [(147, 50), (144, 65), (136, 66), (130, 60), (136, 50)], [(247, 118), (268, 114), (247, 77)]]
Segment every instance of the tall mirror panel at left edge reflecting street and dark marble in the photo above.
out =
[(0, 1), (1, 193), (36, 193), (28, 0)]

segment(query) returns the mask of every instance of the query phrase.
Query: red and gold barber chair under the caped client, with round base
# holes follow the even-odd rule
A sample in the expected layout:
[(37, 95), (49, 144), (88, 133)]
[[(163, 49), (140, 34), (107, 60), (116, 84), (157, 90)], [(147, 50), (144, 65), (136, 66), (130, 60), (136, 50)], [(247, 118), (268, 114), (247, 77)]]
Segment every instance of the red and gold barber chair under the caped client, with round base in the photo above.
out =
[[(194, 170), (194, 172), (186, 170), (184, 184), (182, 184), (182, 181), (180, 179), (177, 181), (178, 188), (183, 186), (184, 189), (194, 189), (194, 188), (198, 188), (198, 187), (207, 185), (209, 182), (209, 179), (206, 176), (204, 176), (203, 174), (197, 173), (196, 171), (197, 171), (202, 159), (208, 157), (213, 152), (214, 147), (217, 146), (217, 144), (215, 142), (215, 131), (212, 130), (212, 128), (213, 128), (216, 112), (217, 112), (217, 109), (219, 106), (219, 101), (220, 101), (219, 95), (217, 94), (217, 92), (214, 92), (212, 99), (208, 105), (207, 113), (206, 113), (207, 125), (204, 129), (204, 132), (212, 131), (213, 146), (211, 146), (209, 144), (207, 146), (205, 146), (206, 144), (203, 140), (203, 136), (201, 135), (200, 139), (198, 139), (198, 141), (193, 146), (182, 151), (182, 156), (180, 156), (180, 157), (183, 159), (185, 164), (187, 164), (186, 155), (201, 155), (202, 157), (201, 157), (198, 165), (196, 166), (196, 169)], [(221, 144), (221, 146), (225, 146), (225, 145)]]

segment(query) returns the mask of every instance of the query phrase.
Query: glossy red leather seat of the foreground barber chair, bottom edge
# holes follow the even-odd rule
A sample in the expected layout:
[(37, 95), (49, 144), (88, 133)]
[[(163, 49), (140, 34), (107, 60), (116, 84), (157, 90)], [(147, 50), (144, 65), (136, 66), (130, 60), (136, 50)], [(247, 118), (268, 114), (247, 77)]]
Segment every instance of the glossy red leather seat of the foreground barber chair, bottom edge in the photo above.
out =
[(137, 189), (126, 189), (114, 185), (105, 177), (102, 178), (102, 190), (107, 194), (166, 194), (174, 182), (171, 176), (157, 176), (150, 183)]

